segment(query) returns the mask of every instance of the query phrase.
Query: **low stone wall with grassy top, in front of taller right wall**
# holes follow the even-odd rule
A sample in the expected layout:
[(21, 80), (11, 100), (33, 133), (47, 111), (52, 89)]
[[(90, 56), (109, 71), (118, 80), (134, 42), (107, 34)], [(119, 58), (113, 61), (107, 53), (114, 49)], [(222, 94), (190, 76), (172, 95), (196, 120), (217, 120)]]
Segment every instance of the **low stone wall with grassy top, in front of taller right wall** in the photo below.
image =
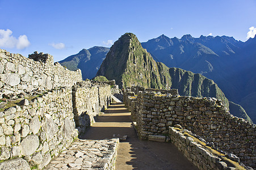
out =
[[(198, 169), (245, 169), (233, 154), (224, 155), (191, 135), (188, 130), (169, 127), (171, 143)], [(249, 167), (247, 167), (249, 168)]]

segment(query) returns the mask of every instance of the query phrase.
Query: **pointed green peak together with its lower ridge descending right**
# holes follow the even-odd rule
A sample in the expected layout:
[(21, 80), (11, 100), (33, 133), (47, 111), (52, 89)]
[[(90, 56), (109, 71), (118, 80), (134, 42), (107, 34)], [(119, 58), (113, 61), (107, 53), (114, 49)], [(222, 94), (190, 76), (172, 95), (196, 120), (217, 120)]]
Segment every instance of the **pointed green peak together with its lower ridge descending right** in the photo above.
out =
[[(179, 94), (195, 97), (216, 97), (229, 108), (229, 101), (213, 80), (154, 61), (132, 33), (125, 33), (111, 46), (96, 76), (115, 79), (120, 87), (140, 85), (146, 88), (177, 88)], [(240, 105), (232, 104), (234, 115), (249, 121)]]

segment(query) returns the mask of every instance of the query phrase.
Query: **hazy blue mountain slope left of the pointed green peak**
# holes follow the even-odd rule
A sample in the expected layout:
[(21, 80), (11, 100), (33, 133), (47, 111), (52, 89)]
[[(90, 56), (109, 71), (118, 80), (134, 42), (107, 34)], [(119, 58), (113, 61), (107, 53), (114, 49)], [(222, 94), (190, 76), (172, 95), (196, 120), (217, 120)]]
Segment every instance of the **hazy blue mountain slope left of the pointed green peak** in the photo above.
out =
[(106, 57), (110, 48), (103, 46), (94, 46), (90, 49), (82, 49), (78, 54), (69, 56), (59, 63), (69, 70), (80, 69), (83, 79), (92, 79), (95, 77), (103, 59)]

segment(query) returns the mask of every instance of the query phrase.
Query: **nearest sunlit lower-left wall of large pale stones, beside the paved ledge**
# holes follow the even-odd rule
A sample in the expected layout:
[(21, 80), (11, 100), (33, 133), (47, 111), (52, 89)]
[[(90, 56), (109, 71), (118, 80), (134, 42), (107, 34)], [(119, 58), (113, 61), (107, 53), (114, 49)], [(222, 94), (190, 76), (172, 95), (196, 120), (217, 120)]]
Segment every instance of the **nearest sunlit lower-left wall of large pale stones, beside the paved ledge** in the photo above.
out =
[(9, 103), (0, 112), (0, 159), (23, 157), (43, 168), (77, 137), (73, 115), (71, 88)]

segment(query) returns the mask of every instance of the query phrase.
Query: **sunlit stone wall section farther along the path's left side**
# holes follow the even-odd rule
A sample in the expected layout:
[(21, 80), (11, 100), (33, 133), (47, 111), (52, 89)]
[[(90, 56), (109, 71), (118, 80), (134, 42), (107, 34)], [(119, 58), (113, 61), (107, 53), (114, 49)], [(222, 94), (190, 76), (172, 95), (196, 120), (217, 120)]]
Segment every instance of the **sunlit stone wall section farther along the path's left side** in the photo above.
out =
[(72, 94), (75, 124), (82, 135), (94, 124), (94, 117), (110, 105), (110, 85), (89, 80), (77, 82)]

